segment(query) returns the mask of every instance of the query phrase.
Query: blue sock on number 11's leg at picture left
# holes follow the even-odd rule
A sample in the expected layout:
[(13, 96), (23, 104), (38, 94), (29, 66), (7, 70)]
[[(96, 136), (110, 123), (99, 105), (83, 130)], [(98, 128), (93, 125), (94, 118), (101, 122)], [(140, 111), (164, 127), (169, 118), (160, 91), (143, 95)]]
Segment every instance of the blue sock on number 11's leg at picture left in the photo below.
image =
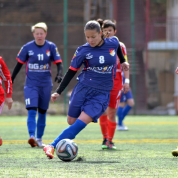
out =
[(35, 131), (36, 131), (36, 113), (35, 110), (28, 110), (28, 117), (27, 117), (27, 127), (28, 127), (28, 133), (29, 136), (35, 137)]

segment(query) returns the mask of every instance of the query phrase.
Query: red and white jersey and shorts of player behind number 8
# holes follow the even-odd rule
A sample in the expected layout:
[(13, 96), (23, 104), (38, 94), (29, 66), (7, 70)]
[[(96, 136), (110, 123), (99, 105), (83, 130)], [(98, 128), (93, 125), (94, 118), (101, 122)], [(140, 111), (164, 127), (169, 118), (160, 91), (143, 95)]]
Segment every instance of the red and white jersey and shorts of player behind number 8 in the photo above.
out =
[[(122, 53), (127, 61), (127, 50), (124, 45), (124, 43), (119, 42)], [(122, 69), (121, 69), (121, 64), (120, 60), (117, 57), (117, 69), (116, 69), (116, 77), (114, 79), (114, 86), (113, 89), (111, 90), (110, 94), (110, 101), (109, 101), (109, 107), (117, 109), (119, 107), (119, 102), (121, 98), (121, 93), (122, 93), (122, 87), (123, 87), (123, 82), (122, 82)]]

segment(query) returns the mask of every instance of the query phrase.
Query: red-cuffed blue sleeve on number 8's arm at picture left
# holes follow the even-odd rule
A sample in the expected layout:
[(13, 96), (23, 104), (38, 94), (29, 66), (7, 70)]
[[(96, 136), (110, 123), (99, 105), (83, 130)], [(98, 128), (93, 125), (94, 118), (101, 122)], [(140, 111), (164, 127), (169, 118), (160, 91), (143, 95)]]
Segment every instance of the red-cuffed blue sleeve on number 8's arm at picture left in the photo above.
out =
[(83, 55), (83, 48), (79, 47), (72, 58), (69, 69), (74, 71), (79, 70), (84, 60), (85, 60), (85, 56)]

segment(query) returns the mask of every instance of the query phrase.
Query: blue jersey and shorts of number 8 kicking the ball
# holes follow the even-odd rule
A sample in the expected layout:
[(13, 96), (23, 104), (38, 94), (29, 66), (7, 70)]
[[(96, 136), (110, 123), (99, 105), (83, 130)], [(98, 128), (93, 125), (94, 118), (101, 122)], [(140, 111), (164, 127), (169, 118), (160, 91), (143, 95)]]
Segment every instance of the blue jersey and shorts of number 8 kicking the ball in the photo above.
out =
[(76, 50), (69, 69), (77, 71), (82, 64), (84, 68), (70, 98), (69, 116), (78, 118), (84, 111), (97, 122), (106, 110), (116, 74), (118, 46), (118, 39), (111, 37), (104, 39), (101, 46), (86, 43)]

